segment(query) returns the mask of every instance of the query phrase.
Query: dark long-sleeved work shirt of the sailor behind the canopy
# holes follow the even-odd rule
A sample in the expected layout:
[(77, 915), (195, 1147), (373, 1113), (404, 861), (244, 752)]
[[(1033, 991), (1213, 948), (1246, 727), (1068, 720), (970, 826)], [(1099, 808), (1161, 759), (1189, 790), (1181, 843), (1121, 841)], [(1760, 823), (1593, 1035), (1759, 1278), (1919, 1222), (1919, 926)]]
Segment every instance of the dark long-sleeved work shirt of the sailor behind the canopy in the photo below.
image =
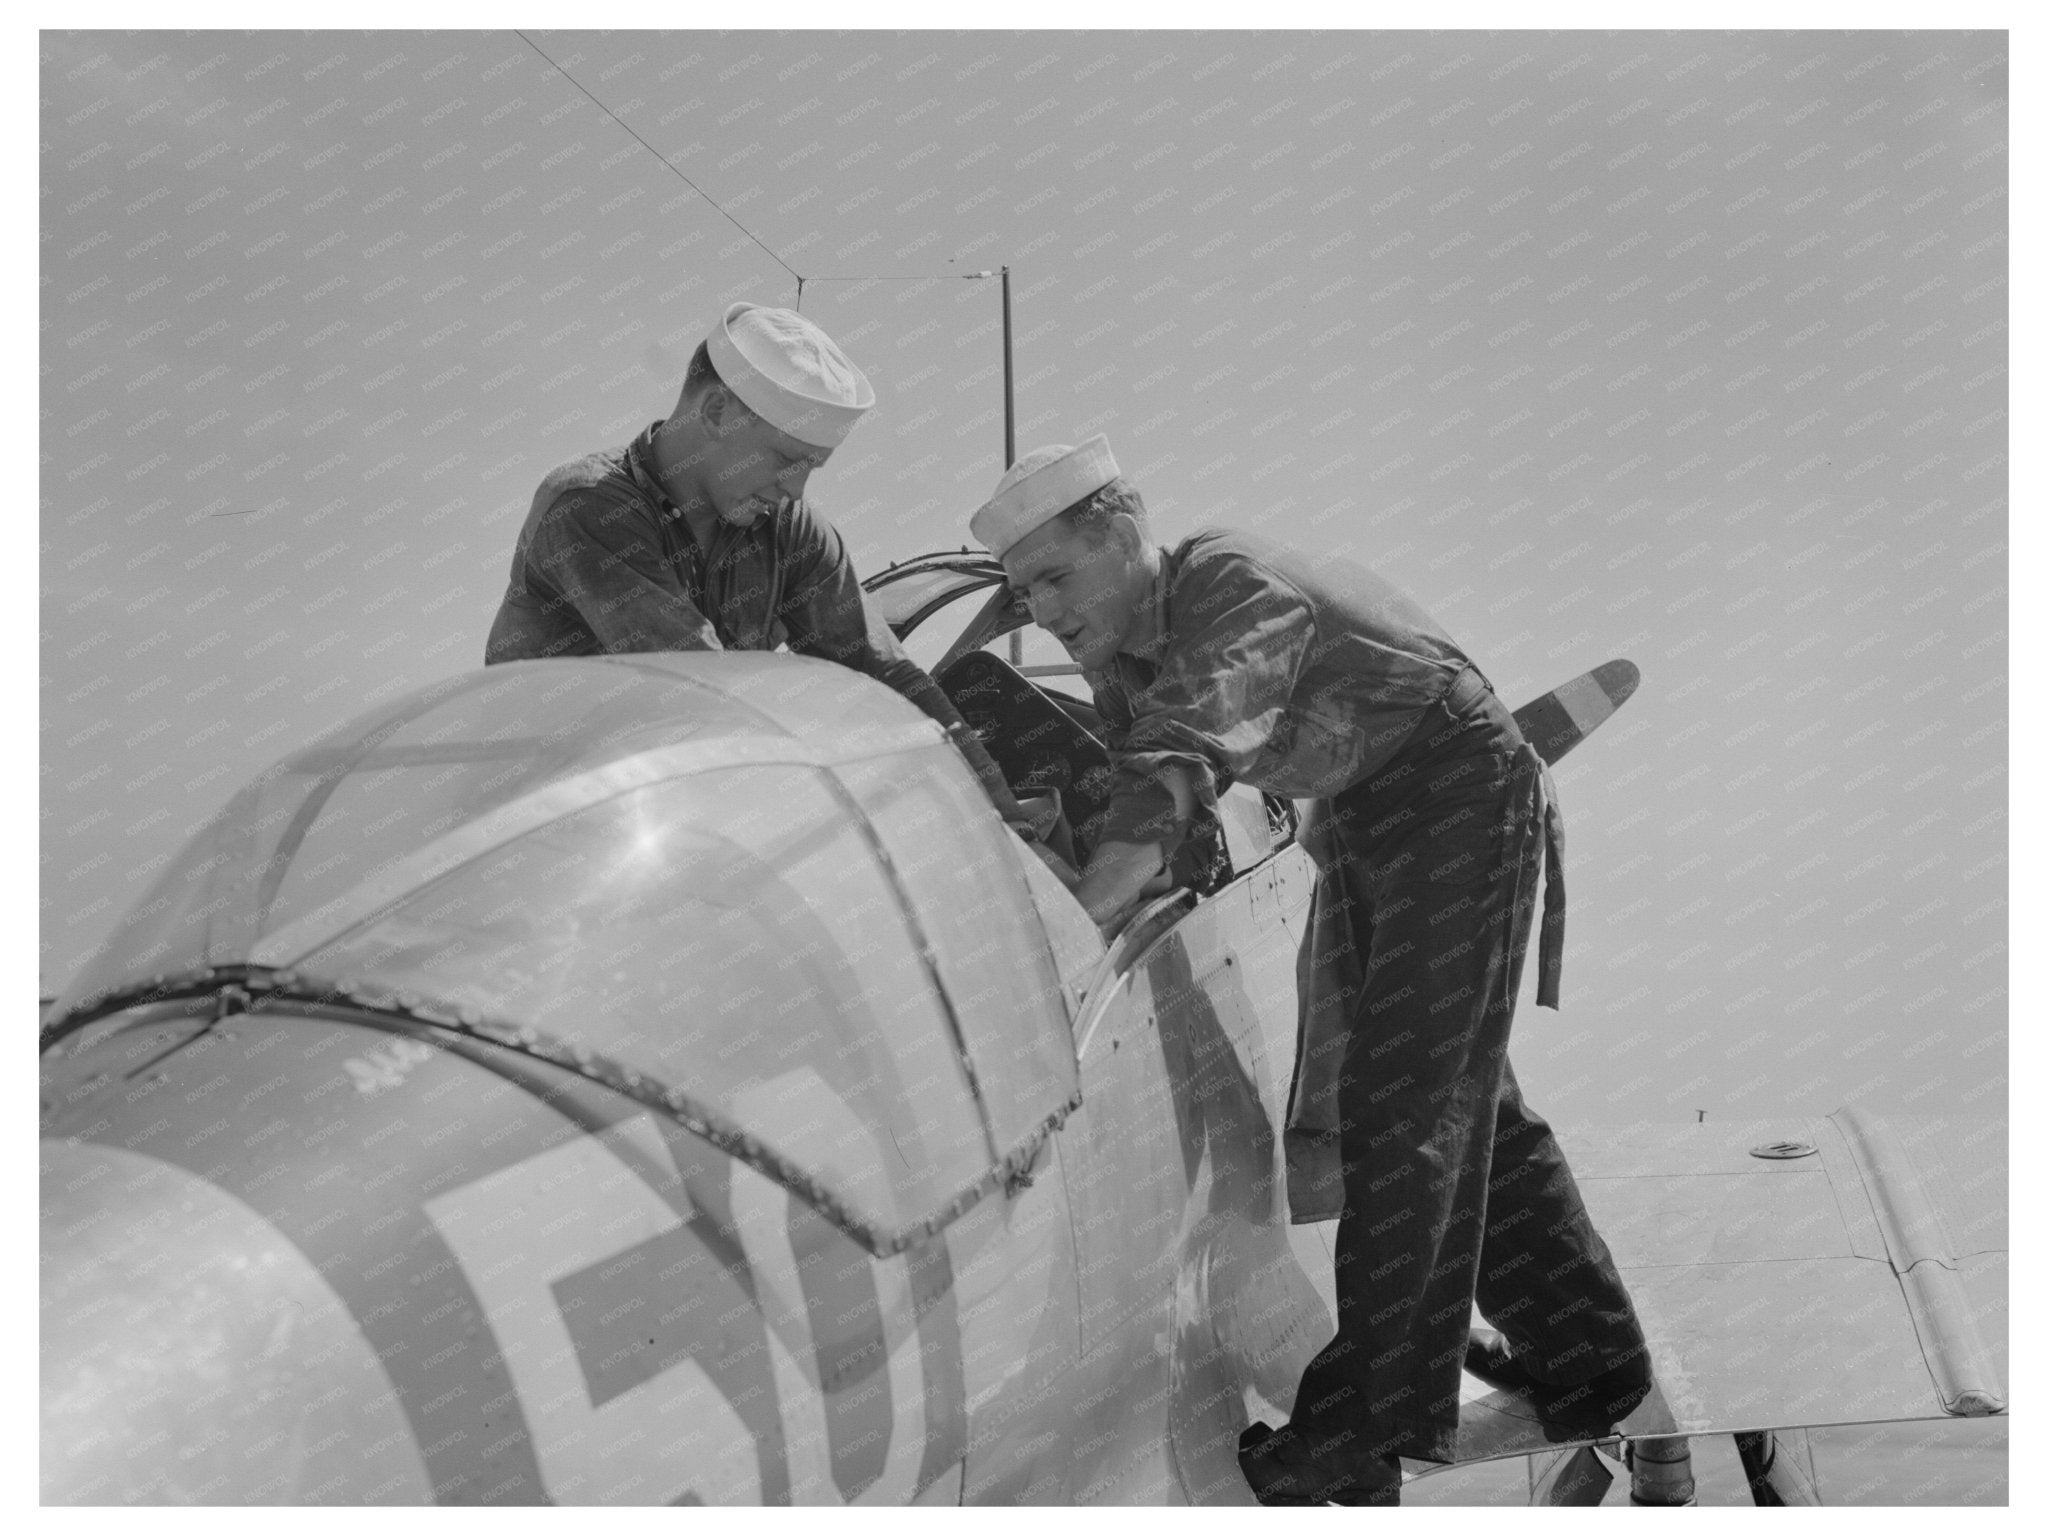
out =
[[(860, 592), (838, 528), (788, 502), (700, 549), (653, 471), (653, 422), (625, 449), (549, 471), (518, 532), (485, 666), (618, 651), (772, 651), (864, 672), (952, 731), (1014, 825), (1022, 811), (952, 700), (897, 645)], [(958, 729), (954, 729), (958, 727)]]

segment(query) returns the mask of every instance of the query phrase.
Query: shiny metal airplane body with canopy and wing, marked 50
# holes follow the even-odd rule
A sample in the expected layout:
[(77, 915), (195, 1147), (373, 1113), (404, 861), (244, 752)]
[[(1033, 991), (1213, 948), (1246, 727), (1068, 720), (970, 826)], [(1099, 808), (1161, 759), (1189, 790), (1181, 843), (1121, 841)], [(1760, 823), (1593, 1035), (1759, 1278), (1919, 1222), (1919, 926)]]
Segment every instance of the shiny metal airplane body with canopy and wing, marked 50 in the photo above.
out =
[[(1247, 1503), (1335, 1296), (1313, 870), (1219, 809), (1233, 877), (1106, 950), (821, 664), (520, 664), (297, 754), (45, 1030), (43, 1501)], [(1995, 1139), (1683, 1130), (1569, 1139), (1679, 1434), (2003, 1407), (2003, 1186), (1929, 1171)], [(1468, 1386), (1470, 1456), (1542, 1444)]]

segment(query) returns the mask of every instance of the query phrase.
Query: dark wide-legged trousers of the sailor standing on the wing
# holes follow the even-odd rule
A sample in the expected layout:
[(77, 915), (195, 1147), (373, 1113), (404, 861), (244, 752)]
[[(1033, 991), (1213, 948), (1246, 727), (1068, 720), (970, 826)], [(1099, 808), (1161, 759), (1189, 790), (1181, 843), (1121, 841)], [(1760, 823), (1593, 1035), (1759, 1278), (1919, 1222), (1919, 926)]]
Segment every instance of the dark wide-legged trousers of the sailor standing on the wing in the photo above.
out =
[(1292, 1425), (1311, 1444), (1452, 1460), (1473, 1303), (1575, 1384), (1642, 1329), (1571, 1167), (1516, 1087), (1507, 1030), (1542, 858), (1544, 772), (1466, 670), (1403, 750), (1331, 803), (1364, 987), (1339, 1083), (1337, 1335)]

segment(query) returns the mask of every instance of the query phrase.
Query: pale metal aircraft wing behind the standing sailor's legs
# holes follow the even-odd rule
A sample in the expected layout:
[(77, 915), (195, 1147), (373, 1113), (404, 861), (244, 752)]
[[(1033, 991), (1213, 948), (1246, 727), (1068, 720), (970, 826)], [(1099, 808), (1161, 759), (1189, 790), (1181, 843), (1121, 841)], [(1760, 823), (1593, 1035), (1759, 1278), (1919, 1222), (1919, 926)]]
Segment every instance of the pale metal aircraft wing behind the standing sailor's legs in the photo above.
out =
[(2005, 1135), (1851, 1108), (1561, 1139), (1683, 1434), (2003, 1411)]

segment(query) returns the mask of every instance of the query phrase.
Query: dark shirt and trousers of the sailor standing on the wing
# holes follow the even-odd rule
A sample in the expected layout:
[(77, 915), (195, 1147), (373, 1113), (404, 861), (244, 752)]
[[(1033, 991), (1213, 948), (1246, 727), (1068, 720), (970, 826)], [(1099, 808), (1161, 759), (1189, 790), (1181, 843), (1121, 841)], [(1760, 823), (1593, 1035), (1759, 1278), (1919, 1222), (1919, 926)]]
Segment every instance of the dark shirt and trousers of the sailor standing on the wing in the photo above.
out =
[[(1450, 1460), (1475, 1298), (1559, 1382), (1642, 1352), (1507, 1065), (1546, 842), (1552, 872), (1556, 858), (1548, 774), (1456, 643), (1362, 565), (1204, 530), (1163, 551), (1137, 633), (1155, 639), (1090, 674), (1118, 772), (1104, 840), (1171, 852), (1186, 825), (1169, 778), (1196, 803), (1235, 778), (1321, 801), (1323, 922), (1305, 936), (1288, 1141), (1290, 1163), (1296, 1141), (1335, 1143), (1341, 1198), (1290, 1198), (1296, 1219), (1339, 1214), (1337, 1335), (1290, 1427)], [(1563, 885), (1552, 895), (1561, 920)], [(1561, 938), (1546, 920), (1552, 1006)], [(1354, 983), (1319, 991), (1329, 975)]]

